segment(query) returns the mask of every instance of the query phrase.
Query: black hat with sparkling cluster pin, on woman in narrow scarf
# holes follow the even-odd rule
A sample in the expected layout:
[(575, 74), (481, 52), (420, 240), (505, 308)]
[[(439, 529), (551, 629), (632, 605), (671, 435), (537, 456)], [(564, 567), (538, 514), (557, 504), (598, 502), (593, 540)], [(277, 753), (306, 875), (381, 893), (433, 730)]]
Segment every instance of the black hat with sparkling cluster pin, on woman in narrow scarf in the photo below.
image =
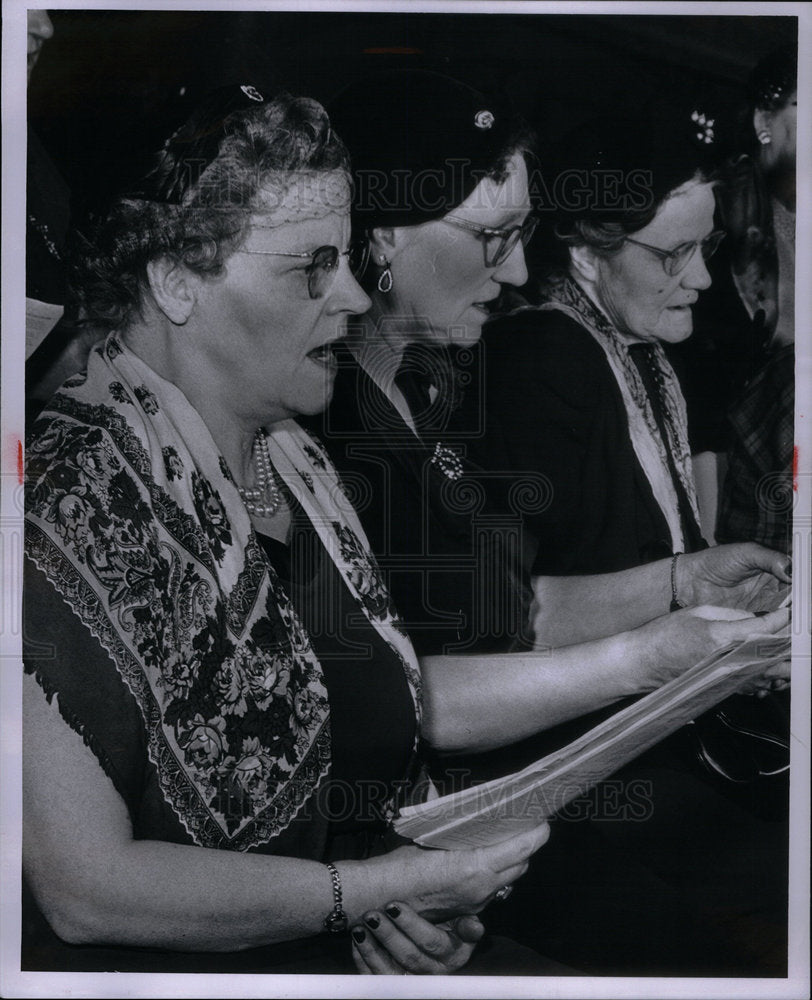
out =
[[(635, 108), (592, 119), (562, 137), (543, 170), (543, 200), (567, 222), (653, 217), (669, 192), (719, 165), (719, 117), (699, 104)], [(644, 221), (641, 221), (645, 225)]]

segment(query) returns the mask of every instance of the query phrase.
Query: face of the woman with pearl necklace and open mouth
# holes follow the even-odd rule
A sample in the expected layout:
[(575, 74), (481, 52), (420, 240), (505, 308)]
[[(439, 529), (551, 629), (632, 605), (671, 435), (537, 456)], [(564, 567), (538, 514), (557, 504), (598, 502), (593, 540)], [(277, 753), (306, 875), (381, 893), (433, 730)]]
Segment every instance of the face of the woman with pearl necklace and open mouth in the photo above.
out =
[(339, 257), (323, 297), (311, 299), (309, 257), (247, 251), (310, 254), (323, 246), (345, 251), (349, 237), (345, 175), (301, 174), (283, 198), (279, 192), (263, 195), (224, 274), (201, 283), (207, 362), (222, 372), (233, 408), (255, 424), (324, 409), (336, 373), (328, 345), (343, 336), (346, 317), (366, 312), (370, 301), (346, 256)]

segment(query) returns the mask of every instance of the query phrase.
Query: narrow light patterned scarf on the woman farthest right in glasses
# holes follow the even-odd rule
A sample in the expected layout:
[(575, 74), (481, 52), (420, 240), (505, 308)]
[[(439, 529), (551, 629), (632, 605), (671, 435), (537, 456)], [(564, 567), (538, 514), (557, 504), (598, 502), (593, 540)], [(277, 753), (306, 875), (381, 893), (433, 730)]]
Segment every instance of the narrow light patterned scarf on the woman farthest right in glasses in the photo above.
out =
[[(548, 301), (538, 309), (558, 309), (584, 327), (597, 341), (612, 374), (615, 377), (623, 405), (629, 421), (629, 436), (634, 453), (646, 479), (651, 486), (654, 499), (663, 512), (671, 534), (671, 548), (674, 552), (685, 550), (677, 491), (669, 469), (668, 455), (660, 435), (651, 401), (643, 384), (628, 346), (609, 319), (589, 300), (578, 284), (571, 278), (551, 282), (545, 288)], [(685, 400), (674, 369), (665, 356), (662, 345), (654, 347), (654, 362), (659, 373), (664, 421), (668, 436), (668, 447), (674, 459), (680, 482), (691, 504), (696, 523), (699, 524), (699, 510), (696, 501), (691, 451), (688, 446), (688, 418)]]

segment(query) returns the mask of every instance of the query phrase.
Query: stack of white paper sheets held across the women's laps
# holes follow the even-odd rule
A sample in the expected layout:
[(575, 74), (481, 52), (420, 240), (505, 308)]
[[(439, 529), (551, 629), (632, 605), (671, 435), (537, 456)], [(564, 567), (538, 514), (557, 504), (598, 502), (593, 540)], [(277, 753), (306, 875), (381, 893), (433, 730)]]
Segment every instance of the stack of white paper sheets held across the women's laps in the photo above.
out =
[(790, 645), (787, 629), (728, 647), (523, 771), (404, 808), (395, 830), (418, 844), (451, 850), (495, 844), (537, 826), (786, 660)]

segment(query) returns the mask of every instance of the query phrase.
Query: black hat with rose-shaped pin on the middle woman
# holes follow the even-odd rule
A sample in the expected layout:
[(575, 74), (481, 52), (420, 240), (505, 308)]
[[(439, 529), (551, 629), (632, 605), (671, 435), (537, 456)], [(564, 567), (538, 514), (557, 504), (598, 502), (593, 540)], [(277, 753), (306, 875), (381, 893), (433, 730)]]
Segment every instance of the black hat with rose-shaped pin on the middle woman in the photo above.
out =
[(359, 229), (446, 215), (498, 165), (515, 124), (495, 100), (427, 70), (367, 77), (328, 112), (350, 153)]

